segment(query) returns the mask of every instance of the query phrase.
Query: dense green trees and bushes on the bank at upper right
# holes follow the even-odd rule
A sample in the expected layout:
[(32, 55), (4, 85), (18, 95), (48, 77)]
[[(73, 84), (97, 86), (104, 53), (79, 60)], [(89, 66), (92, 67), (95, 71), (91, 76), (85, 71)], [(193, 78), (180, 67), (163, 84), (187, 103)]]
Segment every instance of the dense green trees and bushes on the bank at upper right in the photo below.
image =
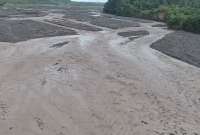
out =
[(109, 0), (104, 12), (165, 21), (170, 28), (200, 33), (200, 0)]

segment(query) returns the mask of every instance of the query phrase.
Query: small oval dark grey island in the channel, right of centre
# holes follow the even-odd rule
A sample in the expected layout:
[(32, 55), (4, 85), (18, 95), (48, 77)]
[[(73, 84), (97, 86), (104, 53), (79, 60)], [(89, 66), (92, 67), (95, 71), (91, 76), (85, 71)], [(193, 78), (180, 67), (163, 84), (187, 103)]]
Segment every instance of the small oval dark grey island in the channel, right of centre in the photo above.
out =
[(122, 36), (122, 37), (132, 37), (132, 36), (141, 37), (141, 36), (149, 35), (149, 32), (145, 31), (145, 30), (140, 30), (140, 31), (125, 31), (125, 32), (119, 32), (118, 35)]

